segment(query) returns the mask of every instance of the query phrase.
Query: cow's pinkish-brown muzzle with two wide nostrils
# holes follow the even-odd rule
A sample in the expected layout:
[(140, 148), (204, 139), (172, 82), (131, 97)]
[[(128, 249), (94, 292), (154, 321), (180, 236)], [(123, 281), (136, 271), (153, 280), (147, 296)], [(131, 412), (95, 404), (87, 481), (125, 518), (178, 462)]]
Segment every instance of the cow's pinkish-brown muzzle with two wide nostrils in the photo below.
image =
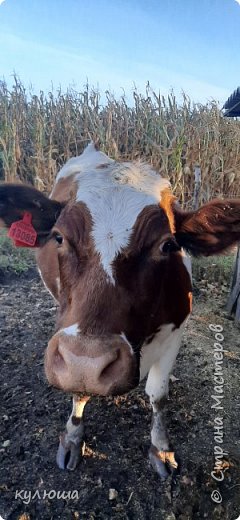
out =
[(118, 335), (56, 333), (45, 353), (45, 372), (51, 385), (66, 392), (119, 395), (139, 382), (136, 356)]

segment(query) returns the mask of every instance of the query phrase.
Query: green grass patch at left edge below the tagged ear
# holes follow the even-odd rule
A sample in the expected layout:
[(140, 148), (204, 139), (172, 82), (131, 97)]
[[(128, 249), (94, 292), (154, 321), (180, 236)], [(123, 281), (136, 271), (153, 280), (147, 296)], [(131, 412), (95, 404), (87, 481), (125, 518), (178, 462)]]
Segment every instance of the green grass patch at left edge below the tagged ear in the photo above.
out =
[(5, 230), (0, 231), (0, 270), (22, 274), (34, 265), (33, 251), (15, 247)]

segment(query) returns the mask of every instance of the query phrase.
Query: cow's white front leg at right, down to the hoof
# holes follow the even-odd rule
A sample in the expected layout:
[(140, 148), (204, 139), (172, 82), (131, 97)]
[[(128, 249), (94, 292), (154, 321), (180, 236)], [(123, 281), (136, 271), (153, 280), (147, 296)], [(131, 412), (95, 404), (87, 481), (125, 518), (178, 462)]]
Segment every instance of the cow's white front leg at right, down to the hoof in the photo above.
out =
[(176, 334), (175, 341), (167, 345), (159, 360), (149, 371), (146, 392), (153, 408), (151, 447), (149, 458), (155, 471), (162, 479), (177, 468), (174, 452), (170, 450), (163, 419), (163, 408), (168, 396), (169, 375), (178, 354), (181, 337)]

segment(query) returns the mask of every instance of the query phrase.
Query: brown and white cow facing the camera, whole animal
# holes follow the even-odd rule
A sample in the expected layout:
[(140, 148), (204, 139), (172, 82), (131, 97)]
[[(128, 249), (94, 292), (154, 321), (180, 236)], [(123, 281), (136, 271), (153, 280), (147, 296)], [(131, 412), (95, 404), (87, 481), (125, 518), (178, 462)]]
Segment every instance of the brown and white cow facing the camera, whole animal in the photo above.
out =
[(192, 300), (185, 250), (208, 256), (236, 243), (240, 200), (184, 212), (150, 166), (113, 161), (90, 144), (60, 170), (50, 198), (30, 186), (0, 186), (3, 225), (24, 212), (37, 232), (41, 276), (59, 303), (46, 376), (74, 394), (59, 467), (78, 463), (87, 396), (122, 394), (147, 376), (150, 459), (166, 477), (176, 462), (162, 408)]

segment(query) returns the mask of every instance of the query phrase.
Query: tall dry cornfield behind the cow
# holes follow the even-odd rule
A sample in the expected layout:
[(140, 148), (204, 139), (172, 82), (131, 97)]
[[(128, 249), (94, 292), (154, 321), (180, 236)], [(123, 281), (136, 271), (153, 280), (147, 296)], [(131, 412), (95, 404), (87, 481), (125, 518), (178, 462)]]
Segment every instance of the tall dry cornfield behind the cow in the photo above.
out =
[(117, 160), (142, 159), (167, 177), (185, 207), (193, 204), (194, 172), (201, 171), (199, 203), (240, 196), (240, 122), (224, 118), (215, 101), (181, 103), (147, 84), (132, 99), (116, 99), (85, 85), (56, 94), (26, 90), (15, 77), (0, 81), (0, 179), (49, 192), (58, 169), (90, 140)]

